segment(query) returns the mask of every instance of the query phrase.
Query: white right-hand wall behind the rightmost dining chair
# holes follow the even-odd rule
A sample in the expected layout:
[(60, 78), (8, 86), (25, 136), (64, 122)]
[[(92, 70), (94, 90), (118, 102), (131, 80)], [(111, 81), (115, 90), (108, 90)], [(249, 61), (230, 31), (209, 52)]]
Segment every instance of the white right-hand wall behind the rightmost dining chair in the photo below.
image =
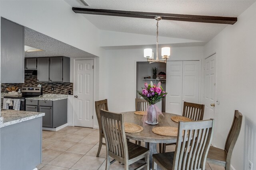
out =
[(204, 58), (216, 52), (217, 81), (216, 147), (224, 148), (237, 109), (243, 114), (242, 129), (234, 148), (232, 166), (248, 170), (248, 160), (256, 170), (256, 3), (204, 47)]

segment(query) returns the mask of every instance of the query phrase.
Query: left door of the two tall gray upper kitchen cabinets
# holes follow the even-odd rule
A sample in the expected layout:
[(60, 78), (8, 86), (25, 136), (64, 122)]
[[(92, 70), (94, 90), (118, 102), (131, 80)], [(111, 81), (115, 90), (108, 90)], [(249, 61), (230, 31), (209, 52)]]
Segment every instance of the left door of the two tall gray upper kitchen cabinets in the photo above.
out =
[(49, 82), (49, 57), (38, 57), (37, 59), (37, 81)]

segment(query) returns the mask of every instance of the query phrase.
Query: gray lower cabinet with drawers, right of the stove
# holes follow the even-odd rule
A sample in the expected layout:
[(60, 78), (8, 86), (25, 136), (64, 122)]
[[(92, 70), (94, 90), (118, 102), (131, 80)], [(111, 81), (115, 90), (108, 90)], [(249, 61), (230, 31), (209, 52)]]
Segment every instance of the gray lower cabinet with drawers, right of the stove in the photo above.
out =
[[(31, 102), (32, 101), (32, 102)], [(42, 126), (56, 128), (68, 123), (68, 99), (63, 100), (26, 100), (26, 111), (45, 113), (42, 117)], [(31, 106), (36, 105), (36, 106)]]

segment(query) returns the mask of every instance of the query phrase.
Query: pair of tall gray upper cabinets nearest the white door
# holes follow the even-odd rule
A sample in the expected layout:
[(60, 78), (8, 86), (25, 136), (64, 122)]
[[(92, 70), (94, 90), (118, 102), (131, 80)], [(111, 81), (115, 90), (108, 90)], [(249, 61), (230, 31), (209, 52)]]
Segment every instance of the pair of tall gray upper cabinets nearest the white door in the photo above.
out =
[(70, 58), (39, 57), (38, 82), (70, 82)]

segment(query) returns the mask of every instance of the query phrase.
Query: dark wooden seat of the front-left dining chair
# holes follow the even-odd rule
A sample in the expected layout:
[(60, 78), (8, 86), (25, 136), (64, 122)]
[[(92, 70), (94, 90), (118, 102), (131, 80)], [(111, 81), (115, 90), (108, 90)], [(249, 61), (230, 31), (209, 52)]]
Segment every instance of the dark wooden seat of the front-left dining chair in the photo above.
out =
[(129, 141), (127, 141), (127, 147), (128, 147), (128, 159), (129, 160), (136, 158), (137, 156), (140, 156), (149, 151), (149, 149), (144, 148), (140, 145), (136, 145)]

